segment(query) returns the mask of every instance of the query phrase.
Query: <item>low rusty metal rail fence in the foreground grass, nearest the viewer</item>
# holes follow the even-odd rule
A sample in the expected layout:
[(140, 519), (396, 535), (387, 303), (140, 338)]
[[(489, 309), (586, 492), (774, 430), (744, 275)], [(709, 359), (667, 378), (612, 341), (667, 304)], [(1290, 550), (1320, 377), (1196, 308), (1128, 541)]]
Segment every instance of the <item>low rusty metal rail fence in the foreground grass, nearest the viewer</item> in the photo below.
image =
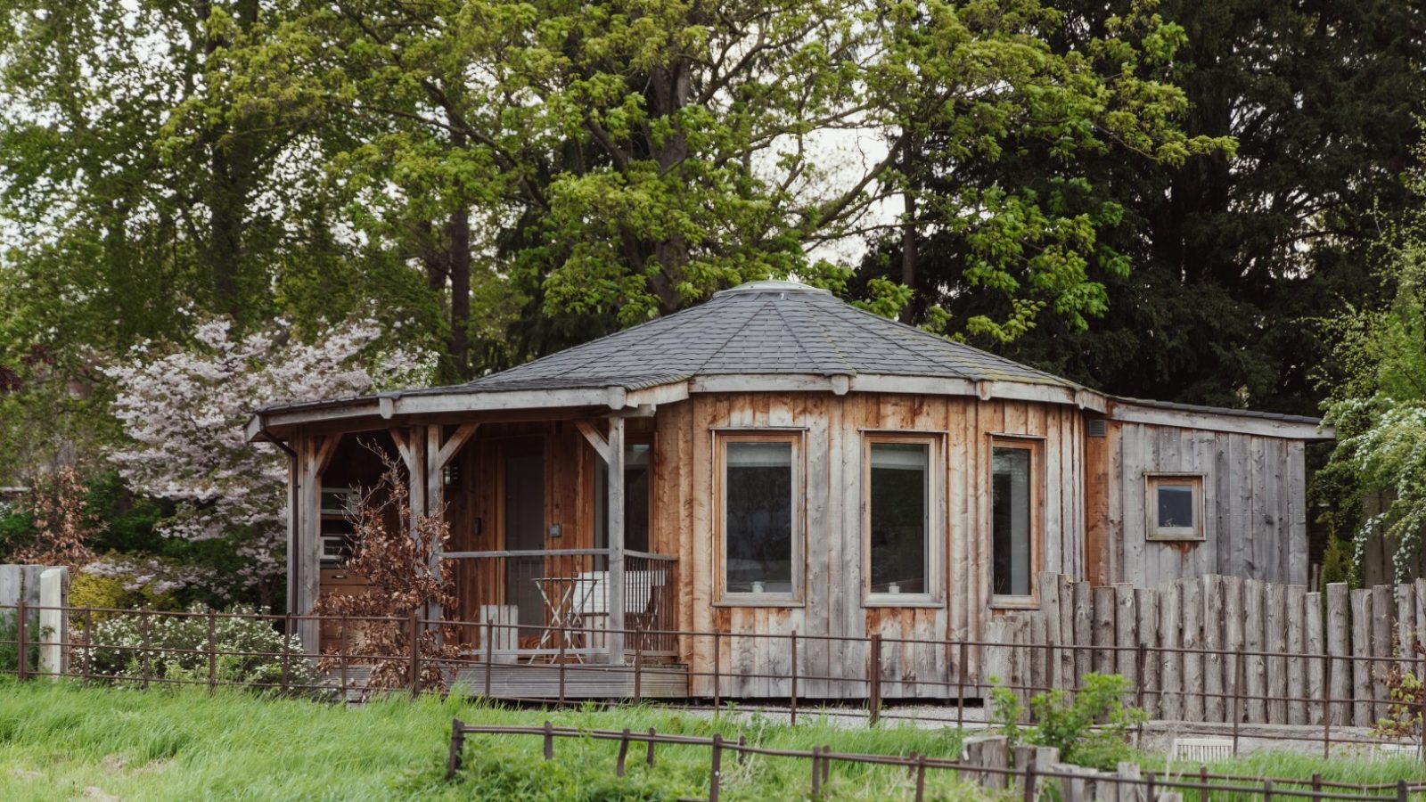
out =
[[(970, 775), (974, 781), (991, 788), (1002, 789), (1015, 785), (1021, 789), (1024, 799), (1032, 802), (1038, 798), (1041, 786), (1052, 781), (1082, 781), (1082, 773), (1058, 772), (1052, 768), (1037, 766), (1031, 758), (1025, 766), (1005, 768), (992, 765), (978, 765), (965, 761), (951, 761), (945, 758), (931, 758), (927, 755), (874, 755), (834, 752), (831, 746), (814, 746), (811, 751), (801, 749), (773, 749), (767, 746), (749, 745), (746, 739), (729, 741), (714, 734), (712, 738), (693, 735), (663, 735), (650, 728), (647, 732), (633, 732), (630, 729), (582, 729), (570, 726), (555, 726), (546, 721), (543, 726), (518, 725), (471, 725), (461, 719), (451, 722), (451, 749), (446, 759), (446, 779), (455, 778), (463, 768), (465, 739), (471, 735), (533, 735), (543, 741), (543, 758), (555, 758), (555, 741), (559, 738), (576, 738), (583, 741), (617, 741), (619, 756), (615, 763), (615, 773), (625, 776), (629, 763), (629, 749), (632, 745), (646, 746), (645, 762), (649, 766), (656, 761), (656, 745), (697, 746), (709, 749), (709, 802), (717, 802), (723, 781), (723, 755), (732, 753), (742, 763), (746, 756), (756, 755), (764, 758), (791, 758), (811, 761), (810, 791), (817, 798), (827, 783), (833, 763), (867, 765), (867, 766), (898, 766), (907, 769), (915, 782), (915, 799), (925, 798), (925, 779), (930, 771), (951, 771), (958, 776)], [(1208, 802), (1214, 793), (1261, 796), (1268, 799), (1309, 799), (1325, 802), (1406, 802), (1410, 795), (1426, 792), (1426, 783), (1409, 783), (1405, 779), (1395, 783), (1348, 785), (1325, 782), (1320, 776), (1312, 779), (1292, 778), (1245, 778), (1238, 775), (1215, 775), (1206, 769), (1192, 775), (1192, 781), (1184, 775), (1145, 772), (1141, 778), (1112, 776), (1102, 778), (1118, 786), (1119, 799), (1161, 799), (1162, 793), (1176, 793), (1179, 798), (1191, 799), (1196, 795), (1202, 802)], [(1349, 793), (1350, 792), (1350, 793)], [(1376, 792), (1376, 793), (1373, 793)]]

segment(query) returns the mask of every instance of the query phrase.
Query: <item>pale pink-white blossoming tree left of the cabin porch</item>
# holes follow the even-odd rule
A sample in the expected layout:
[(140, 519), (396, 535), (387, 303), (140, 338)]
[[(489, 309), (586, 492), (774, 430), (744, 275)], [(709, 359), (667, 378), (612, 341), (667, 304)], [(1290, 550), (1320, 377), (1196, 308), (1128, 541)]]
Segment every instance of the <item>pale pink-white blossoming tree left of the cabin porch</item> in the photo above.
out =
[[(110, 460), (128, 485), (177, 504), (161, 532), (188, 541), (232, 542), (237, 588), (251, 588), (282, 569), (287, 527), (287, 460), (271, 444), (250, 444), (242, 427), (271, 404), (341, 398), (424, 384), (428, 355), (381, 351), (381, 327), (354, 320), (297, 341), (291, 327), (234, 335), (225, 320), (204, 323), (188, 350), (137, 347), (130, 361), (106, 372), (118, 392), (113, 414), (127, 445)], [(140, 567), (108, 565), (110, 571)], [(168, 577), (200, 584), (210, 577)]]

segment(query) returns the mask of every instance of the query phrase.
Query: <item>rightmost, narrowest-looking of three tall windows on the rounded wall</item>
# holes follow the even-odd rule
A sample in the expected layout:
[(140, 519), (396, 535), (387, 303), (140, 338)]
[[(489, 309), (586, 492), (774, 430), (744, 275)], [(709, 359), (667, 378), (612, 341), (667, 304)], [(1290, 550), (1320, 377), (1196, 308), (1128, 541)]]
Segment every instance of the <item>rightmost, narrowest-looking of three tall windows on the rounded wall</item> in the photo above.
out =
[(1040, 522), (1035, 519), (1035, 444), (991, 445), (991, 589), (1000, 602), (1032, 599)]

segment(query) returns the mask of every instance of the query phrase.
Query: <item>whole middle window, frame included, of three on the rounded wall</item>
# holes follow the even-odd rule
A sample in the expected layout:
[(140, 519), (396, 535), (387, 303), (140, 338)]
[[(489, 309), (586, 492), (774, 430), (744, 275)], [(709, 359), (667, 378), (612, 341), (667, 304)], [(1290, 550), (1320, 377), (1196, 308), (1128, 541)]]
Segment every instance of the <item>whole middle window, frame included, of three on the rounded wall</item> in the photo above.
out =
[(867, 441), (868, 601), (931, 601), (931, 454), (924, 438)]

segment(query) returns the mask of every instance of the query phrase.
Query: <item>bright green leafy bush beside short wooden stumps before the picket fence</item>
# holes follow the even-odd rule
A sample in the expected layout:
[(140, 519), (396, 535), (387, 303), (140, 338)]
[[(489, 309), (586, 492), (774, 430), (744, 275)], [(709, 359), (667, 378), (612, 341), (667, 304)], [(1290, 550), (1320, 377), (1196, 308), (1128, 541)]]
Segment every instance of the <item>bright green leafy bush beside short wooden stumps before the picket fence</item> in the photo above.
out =
[(1142, 709), (1122, 702), (1128, 691), (1128, 679), (1118, 674), (1087, 674), (1077, 694), (1057, 688), (1034, 695), (1030, 709), (1035, 725), (1022, 726), (1020, 696), (997, 684), (991, 721), (1011, 745), (1054, 746), (1065, 762), (1109, 769), (1132, 756), (1129, 731), (1148, 721)]

